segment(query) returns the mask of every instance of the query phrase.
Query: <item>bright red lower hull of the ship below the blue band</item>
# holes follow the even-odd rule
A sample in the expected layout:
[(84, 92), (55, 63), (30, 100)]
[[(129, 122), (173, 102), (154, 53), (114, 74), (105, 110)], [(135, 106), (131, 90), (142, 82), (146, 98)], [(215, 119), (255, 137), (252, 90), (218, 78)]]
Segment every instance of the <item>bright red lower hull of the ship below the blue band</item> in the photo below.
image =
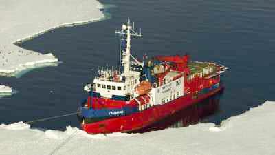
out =
[[(162, 121), (164, 118), (173, 115), (175, 112), (187, 109), (191, 105), (195, 105), (210, 96), (214, 96), (223, 90), (223, 85), (207, 94), (201, 94), (194, 98), (194, 94), (187, 94), (178, 99), (170, 101), (164, 105), (156, 105), (154, 107), (137, 112), (127, 116), (110, 118), (96, 123), (82, 124), (83, 130), (89, 134), (111, 133), (111, 132), (133, 132), (149, 127), (156, 122)], [(195, 112), (199, 113), (198, 110)], [(199, 114), (197, 114), (199, 116)]]

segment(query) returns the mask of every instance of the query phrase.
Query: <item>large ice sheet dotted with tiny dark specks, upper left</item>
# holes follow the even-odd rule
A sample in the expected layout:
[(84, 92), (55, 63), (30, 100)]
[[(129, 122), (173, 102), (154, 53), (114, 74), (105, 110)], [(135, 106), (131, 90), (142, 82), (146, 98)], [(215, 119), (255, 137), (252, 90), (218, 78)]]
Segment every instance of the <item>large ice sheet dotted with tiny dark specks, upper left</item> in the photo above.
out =
[(100, 20), (104, 18), (100, 8), (96, 0), (0, 0), (0, 74), (10, 76), (30, 65), (58, 61), (51, 53), (14, 43), (63, 25)]

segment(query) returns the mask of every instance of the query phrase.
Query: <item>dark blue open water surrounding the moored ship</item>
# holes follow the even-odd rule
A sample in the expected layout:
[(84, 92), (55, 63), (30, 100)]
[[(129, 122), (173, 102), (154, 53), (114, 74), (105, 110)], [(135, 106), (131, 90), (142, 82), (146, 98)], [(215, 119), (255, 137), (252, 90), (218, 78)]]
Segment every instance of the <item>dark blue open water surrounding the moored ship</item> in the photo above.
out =
[[(141, 56), (185, 54), (198, 61), (214, 61), (229, 68), (222, 77), (225, 92), (219, 111), (208, 121), (219, 123), (265, 100), (275, 101), (275, 1), (174, 0), (109, 1), (112, 18), (74, 28), (59, 28), (21, 46), (53, 52), (63, 63), (39, 68), (21, 78), (1, 77), (19, 93), (0, 99), (0, 123), (32, 121), (75, 112), (86, 97), (84, 83), (93, 69), (117, 65), (115, 30), (127, 17), (142, 28), (133, 40)], [(134, 54), (135, 55), (135, 54)], [(65, 129), (78, 126), (76, 116), (36, 123), (34, 127)]]

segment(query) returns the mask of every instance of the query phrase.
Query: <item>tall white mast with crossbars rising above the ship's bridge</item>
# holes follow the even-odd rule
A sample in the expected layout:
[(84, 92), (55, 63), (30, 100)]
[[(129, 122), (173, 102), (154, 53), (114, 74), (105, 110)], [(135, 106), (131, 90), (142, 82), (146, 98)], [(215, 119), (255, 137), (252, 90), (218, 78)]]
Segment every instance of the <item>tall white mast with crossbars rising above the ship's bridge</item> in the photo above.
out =
[[(129, 19), (126, 23), (127, 25), (122, 25), (122, 30), (115, 31), (116, 34), (121, 34), (121, 64), (120, 64), (120, 74), (124, 74), (124, 76), (129, 77), (130, 75), (130, 67), (131, 67), (131, 36), (141, 37), (141, 33), (135, 32), (132, 27)], [(127, 79), (127, 78), (126, 78)]]

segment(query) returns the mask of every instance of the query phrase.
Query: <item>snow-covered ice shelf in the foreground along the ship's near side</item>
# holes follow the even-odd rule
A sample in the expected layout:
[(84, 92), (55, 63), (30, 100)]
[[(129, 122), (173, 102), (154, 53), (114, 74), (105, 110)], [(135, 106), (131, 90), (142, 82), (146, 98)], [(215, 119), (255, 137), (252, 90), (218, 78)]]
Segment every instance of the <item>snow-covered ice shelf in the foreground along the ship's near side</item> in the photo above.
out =
[(61, 132), (34, 130), (25, 123), (2, 124), (0, 154), (268, 155), (275, 154), (274, 118), (275, 102), (266, 101), (220, 127), (201, 123), (145, 134), (89, 135), (72, 127)]

